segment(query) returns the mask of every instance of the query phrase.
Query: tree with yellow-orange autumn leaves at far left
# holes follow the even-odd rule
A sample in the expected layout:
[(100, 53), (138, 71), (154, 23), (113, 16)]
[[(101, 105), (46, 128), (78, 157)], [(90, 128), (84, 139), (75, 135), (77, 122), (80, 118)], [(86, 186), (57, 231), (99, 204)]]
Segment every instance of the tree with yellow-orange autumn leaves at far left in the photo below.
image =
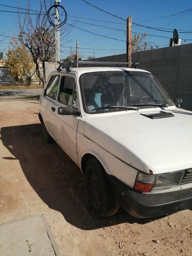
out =
[(18, 44), (17, 40), (10, 41), (10, 45), (6, 52), (5, 66), (11, 73), (11, 77), (15, 81), (32, 81), (35, 74), (35, 68), (32, 56), (26, 47)]

